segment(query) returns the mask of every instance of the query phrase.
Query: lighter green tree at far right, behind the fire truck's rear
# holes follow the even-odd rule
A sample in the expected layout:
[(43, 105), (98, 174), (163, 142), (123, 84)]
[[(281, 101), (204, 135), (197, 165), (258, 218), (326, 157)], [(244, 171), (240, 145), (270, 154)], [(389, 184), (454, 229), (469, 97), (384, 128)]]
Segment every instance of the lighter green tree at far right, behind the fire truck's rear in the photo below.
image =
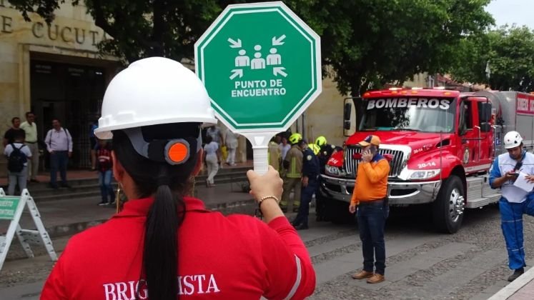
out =
[(534, 31), (528, 27), (503, 26), (465, 39), (460, 49), (451, 71), (455, 79), (500, 91), (534, 91)]

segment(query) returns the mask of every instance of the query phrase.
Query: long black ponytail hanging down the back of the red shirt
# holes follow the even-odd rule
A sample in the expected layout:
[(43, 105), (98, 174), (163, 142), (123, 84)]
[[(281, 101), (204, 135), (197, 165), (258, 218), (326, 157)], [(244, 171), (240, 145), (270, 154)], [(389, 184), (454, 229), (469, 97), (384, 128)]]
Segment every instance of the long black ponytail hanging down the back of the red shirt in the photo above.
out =
[(151, 300), (177, 298), (178, 227), (184, 211), (182, 196), (173, 194), (167, 185), (158, 186), (144, 235), (143, 267)]

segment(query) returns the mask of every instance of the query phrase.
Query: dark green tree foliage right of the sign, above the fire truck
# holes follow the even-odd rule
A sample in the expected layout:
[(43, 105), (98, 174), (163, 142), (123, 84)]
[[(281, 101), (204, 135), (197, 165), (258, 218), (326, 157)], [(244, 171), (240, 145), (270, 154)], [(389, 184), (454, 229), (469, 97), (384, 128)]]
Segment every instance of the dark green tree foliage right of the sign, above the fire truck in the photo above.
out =
[(340, 20), (347, 22), (348, 39), (337, 41), (332, 29), (322, 38), (337, 41), (325, 63), (333, 67), (340, 91), (353, 95), (421, 72), (448, 70), (463, 37), (482, 34), (493, 24), (484, 10), (489, 0), (351, 2), (342, 9), (348, 11), (346, 19)]

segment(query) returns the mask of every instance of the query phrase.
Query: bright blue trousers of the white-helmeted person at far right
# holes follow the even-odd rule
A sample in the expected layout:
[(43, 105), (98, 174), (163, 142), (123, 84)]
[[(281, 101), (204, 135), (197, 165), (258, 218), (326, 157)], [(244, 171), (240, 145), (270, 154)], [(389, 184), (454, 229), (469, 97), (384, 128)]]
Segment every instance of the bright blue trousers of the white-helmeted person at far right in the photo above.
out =
[(523, 203), (512, 203), (501, 198), (499, 201), (500, 227), (508, 251), (510, 269), (521, 269), (525, 264), (523, 248), (523, 214), (534, 216), (534, 199), (526, 199)]

